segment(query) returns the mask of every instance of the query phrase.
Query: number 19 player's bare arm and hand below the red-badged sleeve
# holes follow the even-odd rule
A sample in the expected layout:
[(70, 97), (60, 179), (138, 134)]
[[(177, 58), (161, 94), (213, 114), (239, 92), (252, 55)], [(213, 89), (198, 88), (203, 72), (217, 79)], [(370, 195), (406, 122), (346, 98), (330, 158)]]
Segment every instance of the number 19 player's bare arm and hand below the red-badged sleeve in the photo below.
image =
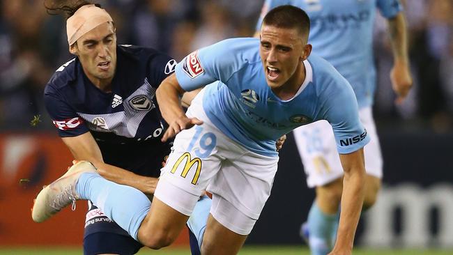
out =
[(181, 130), (203, 123), (197, 118), (187, 118), (180, 101), (183, 93), (184, 90), (179, 85), (174, 73), (164, 79), (155, 93), (162, 117), (169, 124), (162, 141), (167, 141), (167, 139), (174, 137)]

